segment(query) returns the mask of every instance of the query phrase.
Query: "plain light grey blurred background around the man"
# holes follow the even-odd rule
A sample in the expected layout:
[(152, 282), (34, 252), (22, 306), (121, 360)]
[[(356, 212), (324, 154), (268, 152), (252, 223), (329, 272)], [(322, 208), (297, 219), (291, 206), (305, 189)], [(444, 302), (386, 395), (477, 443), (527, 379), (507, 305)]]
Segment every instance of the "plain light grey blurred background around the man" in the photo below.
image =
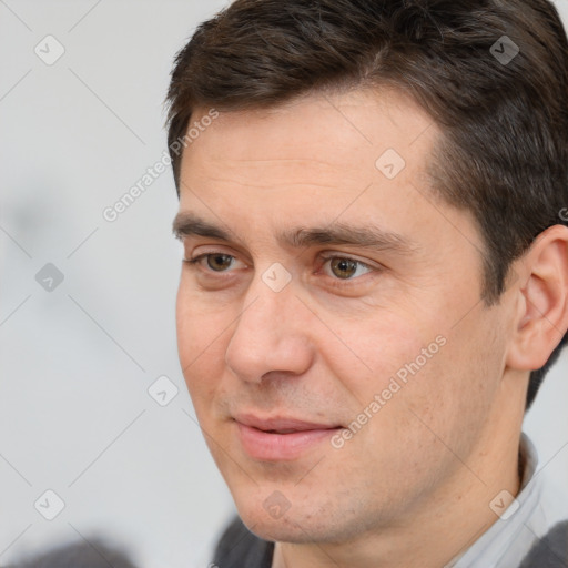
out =
[[(0, 0), (0, 565), (103, 535), (141, 568), (206, 567), (233, 510), (178, 363), (171, 172), (102, 216), (161, 159), (173, 55), (223, 6)], [(48, 34), (65, 50), (52, 65), (34, 53)], [(64, 275), (52, 292), (47, 263)], [(525, 428), (564, 488), (567, 367)], [(148, 394), (162, 375), (179, 388), (165, 407)], [(48, 489), (65, 504), (51, 521), (34, 508)]]

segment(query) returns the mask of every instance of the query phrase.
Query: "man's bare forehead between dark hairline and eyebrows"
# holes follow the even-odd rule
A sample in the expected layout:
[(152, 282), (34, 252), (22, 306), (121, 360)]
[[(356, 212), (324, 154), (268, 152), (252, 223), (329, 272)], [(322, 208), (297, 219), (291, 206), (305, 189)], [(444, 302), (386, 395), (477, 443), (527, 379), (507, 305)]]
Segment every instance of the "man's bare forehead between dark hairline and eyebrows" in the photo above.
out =
[[(210, 111), (195, 113), (192, 125)], [(398, 92), (312, 95), (209, 122), (183, 154), (183, 213), (250, 243), (337, 221), (375, 225), (407, 242), (448, 236), (436, 209), (445, 204), (428, 203), (439, 201), (427, 166), (440, 132)], [(466, 231), (476, 239), (474, 227)]]

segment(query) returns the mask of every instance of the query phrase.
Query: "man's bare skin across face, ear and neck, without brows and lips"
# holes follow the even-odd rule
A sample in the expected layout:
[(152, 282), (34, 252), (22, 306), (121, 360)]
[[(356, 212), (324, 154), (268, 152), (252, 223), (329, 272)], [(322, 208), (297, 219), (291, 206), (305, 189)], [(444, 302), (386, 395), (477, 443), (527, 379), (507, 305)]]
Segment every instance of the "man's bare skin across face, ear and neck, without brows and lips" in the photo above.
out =
[[(567, 231), (542, 234), (500, 302), (485, 305), (476, 223), (428, 183), (439, 136), (400, 93), (353, 91), (221, 113), (184, 152), (180, 213), (233, 236), (182, 234), (184, 257), (233, 260), (223, 272), (207, 258), (183, 265), (180, 359), (241, 518), (277, 542), (274, 568), (444, 566), (497, 520), (497, 494), (518, 493), (528, 372), (568, 326)], [(387, 149), (406, 161), (393, 180), (375, 168)], [(373, 224), (409, 247), (276, 241), (334, 221)], [(323, 253), (369, 268), (342, 278)], [(281, 292), (262, 280), (276, 262), (292, 278)], [(347, 428), (440, 336), (339, 449), (325, 438), (292, 460), (245, 452), (236, 414)], [(275, 490), (290, 505), (278, 518), (263, 506)]]

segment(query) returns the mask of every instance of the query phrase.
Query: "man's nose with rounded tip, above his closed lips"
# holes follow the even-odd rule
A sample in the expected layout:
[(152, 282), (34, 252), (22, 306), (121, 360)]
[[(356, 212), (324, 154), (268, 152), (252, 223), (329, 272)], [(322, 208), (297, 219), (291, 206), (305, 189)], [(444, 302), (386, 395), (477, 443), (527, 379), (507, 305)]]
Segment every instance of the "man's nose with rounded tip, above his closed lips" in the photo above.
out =
[(313, 314), (297, 297), (294, 281), (275, 292), (257, 275), (225, 352), (225, 364), (242, 381), (302, 375), (313, 362)]

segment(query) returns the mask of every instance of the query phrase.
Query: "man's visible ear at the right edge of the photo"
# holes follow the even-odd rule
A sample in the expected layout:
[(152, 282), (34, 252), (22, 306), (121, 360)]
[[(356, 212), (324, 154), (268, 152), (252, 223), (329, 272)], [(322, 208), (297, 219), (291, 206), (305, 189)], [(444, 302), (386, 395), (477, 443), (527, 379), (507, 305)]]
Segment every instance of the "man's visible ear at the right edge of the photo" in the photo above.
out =
[(568, 328), (568, 227), (554, 225), (515, 266), (518, 302), (507, 365), (542, 367)]

